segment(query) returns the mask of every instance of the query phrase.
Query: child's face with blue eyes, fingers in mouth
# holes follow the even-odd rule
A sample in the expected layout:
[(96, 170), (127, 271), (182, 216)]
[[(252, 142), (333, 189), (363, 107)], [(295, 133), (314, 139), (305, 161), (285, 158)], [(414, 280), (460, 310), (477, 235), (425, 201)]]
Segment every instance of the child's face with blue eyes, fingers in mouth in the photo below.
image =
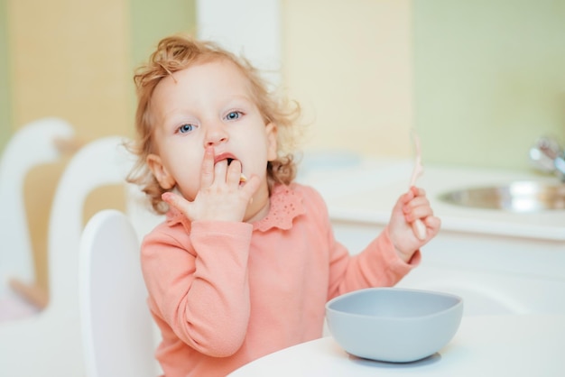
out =
[(155, 87), (150, 105), (156, 151), (147, 162), (162, 188), (176, 186), (193, 200), (204, 150), (212, 146), (217, 160), (240, 161), (245, 176), (258, 176), (261, 189), (267, 189), (267, 161), (277, 157), (276, 130), (274, 124), (264, 124), (242, 72), (232, 62), (218, 60), (173, 77)]

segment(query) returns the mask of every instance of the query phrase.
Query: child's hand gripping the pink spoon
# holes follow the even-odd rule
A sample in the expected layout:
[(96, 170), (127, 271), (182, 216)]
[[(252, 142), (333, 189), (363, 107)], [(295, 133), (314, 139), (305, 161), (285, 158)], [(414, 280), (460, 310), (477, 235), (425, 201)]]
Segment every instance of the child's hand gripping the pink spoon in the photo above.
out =
[[(412, 223), (416, 219), (421, 219), (426, 226), (426, 237), (423, 240), (418, 239), (412, 230)], [(389, 234), (396, 252), (403, 261), (409, 262), (416, 250), (438, 234), (440, 225), (440, 218), (433, 216), (430, 201), (426, 198), (424, 190), (412, 187), (398, 198), (394, 205)]]

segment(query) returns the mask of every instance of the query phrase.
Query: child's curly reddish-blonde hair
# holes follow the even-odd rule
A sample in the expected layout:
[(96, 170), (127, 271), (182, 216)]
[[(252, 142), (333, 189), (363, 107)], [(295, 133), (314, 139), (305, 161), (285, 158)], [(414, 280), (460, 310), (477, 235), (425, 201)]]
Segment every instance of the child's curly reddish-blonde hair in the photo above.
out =
[(275, 91), (269, 91), (267, 83), (248, 60), (222, 49), (212, 41), (199, 41), (185, 35), (173, 35), (164, 38), (153, 51), (149, 61), (135, 70), (134, 83), (137, 92), (137, 110), (135, 114), (136, 137), (126, 145), (134, 153), (137, 161), (127, 176), (127, 181), (139, 185), (150, 200), (153, 210), (164, 214), (168, 206), (162, 201), (162, 189), (145, 161), (150, 153), (156, 151), (153, 130), (153, 117), (150, 103), (153, 90), (162, 78), (193, 65), (215, 60), (233, 62), (249, 80), (251, 97), (264, 119), (264, 124), (273, 123), (277, 127), (277, 159), (267, 164), (269, 188), (274, 183), (290, 184), (296, 176), (296, 161), (292, 151), (296, 147), (297, 127), (295, 121), (301, 108), (296, 102), (287, 101)]

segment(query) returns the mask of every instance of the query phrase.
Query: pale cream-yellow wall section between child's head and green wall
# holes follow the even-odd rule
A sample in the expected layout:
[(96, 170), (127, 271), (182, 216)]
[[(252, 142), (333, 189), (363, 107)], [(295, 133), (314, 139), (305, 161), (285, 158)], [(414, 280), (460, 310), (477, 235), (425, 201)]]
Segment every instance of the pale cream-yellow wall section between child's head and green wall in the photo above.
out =
[(305, 148), (408, 156), (409, 0), (286, 0), (283, 76), (310, 123)]

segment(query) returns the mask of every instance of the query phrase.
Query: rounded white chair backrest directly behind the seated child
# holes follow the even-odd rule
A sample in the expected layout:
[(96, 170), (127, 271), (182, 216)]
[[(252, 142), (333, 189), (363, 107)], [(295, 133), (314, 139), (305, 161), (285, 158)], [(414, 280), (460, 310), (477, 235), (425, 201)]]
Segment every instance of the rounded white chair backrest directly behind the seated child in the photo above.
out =
[(97, 212), (88, 220), (79, 247), (87, 375), (156, 376), (139, 240), (129, 218), (115, 209)]

